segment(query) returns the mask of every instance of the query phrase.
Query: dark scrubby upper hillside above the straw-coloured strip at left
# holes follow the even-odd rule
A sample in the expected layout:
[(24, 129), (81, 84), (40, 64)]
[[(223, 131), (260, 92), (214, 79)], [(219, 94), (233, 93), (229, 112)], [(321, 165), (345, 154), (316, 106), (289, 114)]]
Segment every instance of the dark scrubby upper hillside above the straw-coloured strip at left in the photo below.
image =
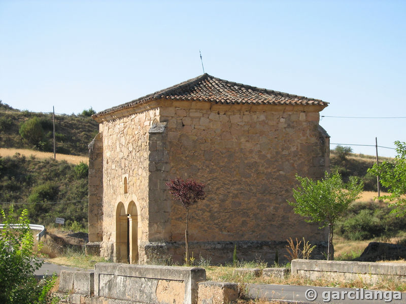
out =
[[(87, 155), (88, 144), (98, 132), (92, 108), (78, 115), (55, 115), (56, 153)], [(53, 151), (52, 113), (14, 109), (0, 101), (0, 146)]]

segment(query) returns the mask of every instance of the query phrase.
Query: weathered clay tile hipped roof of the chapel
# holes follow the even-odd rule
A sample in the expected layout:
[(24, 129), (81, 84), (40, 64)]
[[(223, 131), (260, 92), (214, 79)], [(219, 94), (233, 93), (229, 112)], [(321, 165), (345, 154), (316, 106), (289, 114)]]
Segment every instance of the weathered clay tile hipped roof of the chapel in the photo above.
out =
[(261, 89), (213, 77), (207, 73), (175, 86), (134, 99), (93, 115), (93, 118), (159, 99), (209, 101), (217, 104), (323, 105), (328, 102), (288, 93)]

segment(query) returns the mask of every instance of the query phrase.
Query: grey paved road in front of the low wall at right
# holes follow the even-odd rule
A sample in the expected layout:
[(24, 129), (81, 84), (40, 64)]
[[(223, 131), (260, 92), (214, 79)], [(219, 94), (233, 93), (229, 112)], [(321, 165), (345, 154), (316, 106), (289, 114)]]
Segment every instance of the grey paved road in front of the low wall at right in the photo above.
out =
[[(317, 296), (313, 301), (306, 297), (306, 291), (313, 289)], [(350, 295), (348, 292), (351, 291)], [(308, 293), (308, 297), (315, 296), (313, 291)], [(372, 292), (375, 292), (373, 290)], [(376, 303), (395, 303), (406, 304), (406, 292), (400, 293), (401, 299), (395, 299), (395, 294), (388, 291), (382, 291), (382, 299), (365, 299), (369, 290), (355, 288), (332, 288), (332, 287), (311, 287), (311, 286), (291, 286), (291, 285), (266, 285), (266, 284), (248, 284), (248, 295), (256, 298), (279, 299), (287, 301), (298, 301), (299, 303), (334, 303), (334, 304), (376, 304)], [(364, 299), (360, 299), (362, 295)], [(369, 293), (370, 294), (370, 293)], [(341, 299), (332, 299), (333, 296), (340, 296)], [(350, 296), (350, 298), (349, 298)], [(399, 296), (399, 295), (397, 295)], [(354, 297), (354, 299), (351, 299)], [(379, 295), (378, 295), (379, 297)], [(330, 300), (328, 300), (330, 298)], [(357, 299), (359, 298), (359, 299)], [(389, 301), (392, 299), (391, 301)]]

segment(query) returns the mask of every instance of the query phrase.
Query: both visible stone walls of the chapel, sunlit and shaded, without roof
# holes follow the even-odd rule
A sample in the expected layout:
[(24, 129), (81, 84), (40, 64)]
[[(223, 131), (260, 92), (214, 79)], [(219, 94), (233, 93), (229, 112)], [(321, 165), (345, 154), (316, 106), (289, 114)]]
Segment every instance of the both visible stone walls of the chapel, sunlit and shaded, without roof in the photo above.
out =
[(175, 177), (206, 184), (207, 198), (189, 212), (190, 242), (324, 240), (324, 231), (304, 222), (286, 202), (295, 174), (320, 178), (328, 170), (321, 109), (161, 100), (101, 122), (100, 254), (114, 259), (120, 202), (125, 213), (132, 202), (137, 207), (141, 263), (152, 243), (184, 241), (186, 212), (171, 201), (165, 185)]

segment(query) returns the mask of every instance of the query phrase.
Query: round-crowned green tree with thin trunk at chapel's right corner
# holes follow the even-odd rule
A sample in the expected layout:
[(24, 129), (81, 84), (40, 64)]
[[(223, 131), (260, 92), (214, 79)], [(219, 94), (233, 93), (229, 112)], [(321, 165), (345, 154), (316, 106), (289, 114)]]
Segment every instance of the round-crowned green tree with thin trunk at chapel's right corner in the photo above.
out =
[(362, 192), (363, 184), (351, 177), (344, 183), (339, 173), (328, 174), (321, 180), (296, 175), (300, 185), (293, 189), (295, 201), (289, 202), (296, 214), (307, 217), (307, 222), (317, 222), (323, 228), (328, 226), (327, 258), (334, 259), (333, 225)]

